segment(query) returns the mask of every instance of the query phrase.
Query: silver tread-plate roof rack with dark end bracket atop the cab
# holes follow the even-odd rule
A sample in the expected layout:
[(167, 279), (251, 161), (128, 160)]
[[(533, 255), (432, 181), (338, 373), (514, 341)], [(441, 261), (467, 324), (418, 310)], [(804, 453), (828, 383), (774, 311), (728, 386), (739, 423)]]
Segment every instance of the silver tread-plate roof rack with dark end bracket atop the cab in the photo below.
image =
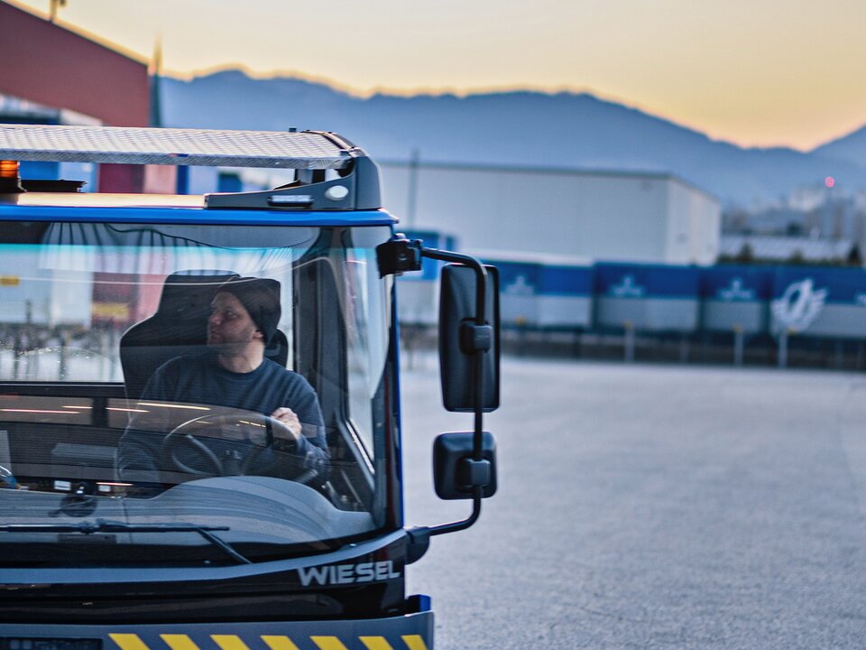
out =
[(289, 185), (276, 190), (207, 194), (205, 206), (381, 207), (375, 163), (360, 147), (323, 131), (0, 124), (0, 160), (293, 169), (298, 171), (296, 181)]

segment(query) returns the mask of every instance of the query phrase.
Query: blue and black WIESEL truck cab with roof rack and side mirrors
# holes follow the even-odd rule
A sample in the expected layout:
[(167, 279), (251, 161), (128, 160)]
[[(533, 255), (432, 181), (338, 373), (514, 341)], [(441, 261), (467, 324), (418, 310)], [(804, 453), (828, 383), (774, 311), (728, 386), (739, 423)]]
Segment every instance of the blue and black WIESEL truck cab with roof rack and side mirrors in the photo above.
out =
[[(0, 159), (4, 647), (431, 648), (429, 599), (406, 594), (405, 572), (495, 491), (495, 270), (401, 237), (376, 165), (334, 134), (0, 125)], [(28, 160), (294, 180), (97, 194), (22, 181)], [(394, 283), (425, 256), (449, 263), (444, 404), (474, 413), (472, 431), (438, 438), (435, 487), (472, 512), (407, 528)], [(266, 281), (279, 305), (262, 363), (313, 395), (315, 408), (283, 404), (311, 413), (299, 427), (249, 407), (269, 386), (244, 373), (174, 392), (171, 368), (218, 362), (215, 301), (243, 280)], [(148, 462), (124, 460), (130, 444)]]

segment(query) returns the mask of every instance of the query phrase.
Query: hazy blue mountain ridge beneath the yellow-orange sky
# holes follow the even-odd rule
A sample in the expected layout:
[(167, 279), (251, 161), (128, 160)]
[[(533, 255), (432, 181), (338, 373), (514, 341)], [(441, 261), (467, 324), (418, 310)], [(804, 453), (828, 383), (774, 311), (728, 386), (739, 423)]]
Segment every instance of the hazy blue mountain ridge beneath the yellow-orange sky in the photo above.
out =
[(417, 149), (422, 160), (440, 163), (672, 172), (742, 206), (828, 175), (839, 186), (866, 186), (866, 156), (744, 149), (585, 93), (357, 98), (236, 70), (164, 79), (162, 88), (167, 126), (336, 131), (382, 160), (406, 160)]

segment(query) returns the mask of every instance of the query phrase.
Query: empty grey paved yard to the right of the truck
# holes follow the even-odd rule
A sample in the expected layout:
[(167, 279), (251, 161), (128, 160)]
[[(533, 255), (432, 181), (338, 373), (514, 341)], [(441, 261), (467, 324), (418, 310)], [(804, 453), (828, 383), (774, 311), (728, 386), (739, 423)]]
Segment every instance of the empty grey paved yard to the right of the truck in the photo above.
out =
[[(402, 369), (407, 523), (430, 478), (433, 357)], [(866, 375), (506, 358), (499, 491), (409, 567), (439, 650), (866, 647)]]

